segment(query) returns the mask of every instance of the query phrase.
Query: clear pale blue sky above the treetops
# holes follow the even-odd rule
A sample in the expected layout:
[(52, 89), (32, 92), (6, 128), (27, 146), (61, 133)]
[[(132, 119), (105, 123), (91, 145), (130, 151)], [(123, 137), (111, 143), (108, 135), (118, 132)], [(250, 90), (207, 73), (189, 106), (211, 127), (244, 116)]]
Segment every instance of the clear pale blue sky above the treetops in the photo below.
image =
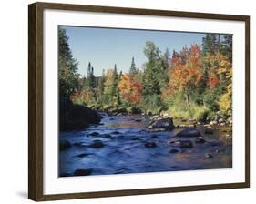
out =
[(91, 62), (95, 76), (101, 76), (103, 69), (113, 68), (128, 72), (131, 58), (139, 68), (147, 61), (143, 50), (146, 41), (152, 41), (162, 52), (179, 51), (183, 46), (201, 44), (204, 34), (170, 31), (148, 31), (130, 29), (109, 29), (79, 26), (61, 26), (69, 36), (69, 46), (78, 61), (78, 72), (84, 76)]

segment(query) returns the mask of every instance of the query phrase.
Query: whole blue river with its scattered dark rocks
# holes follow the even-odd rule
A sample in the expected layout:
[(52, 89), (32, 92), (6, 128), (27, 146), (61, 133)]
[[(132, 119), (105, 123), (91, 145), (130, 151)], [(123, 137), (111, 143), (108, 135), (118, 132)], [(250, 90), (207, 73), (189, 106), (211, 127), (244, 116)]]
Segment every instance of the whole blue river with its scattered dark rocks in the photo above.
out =
[(60, 177), (232, 168), (228, 125), (101, 114), (98, 125), (60, 132)]

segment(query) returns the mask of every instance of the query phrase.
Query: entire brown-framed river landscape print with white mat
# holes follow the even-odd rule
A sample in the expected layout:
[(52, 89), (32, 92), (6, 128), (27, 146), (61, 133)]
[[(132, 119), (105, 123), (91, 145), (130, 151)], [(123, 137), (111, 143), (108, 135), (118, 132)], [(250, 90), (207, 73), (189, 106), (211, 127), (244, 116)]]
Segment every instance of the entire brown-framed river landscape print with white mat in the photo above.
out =
[(36, 201), (250, 186), (250, 17), (29, 5)]

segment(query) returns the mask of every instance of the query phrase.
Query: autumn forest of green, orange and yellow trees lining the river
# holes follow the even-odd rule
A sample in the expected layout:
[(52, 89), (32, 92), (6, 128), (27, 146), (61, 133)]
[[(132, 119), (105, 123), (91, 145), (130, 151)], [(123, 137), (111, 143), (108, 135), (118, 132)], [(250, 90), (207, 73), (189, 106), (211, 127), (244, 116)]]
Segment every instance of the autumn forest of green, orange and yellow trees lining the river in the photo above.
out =
[(114, 114), (167, 114), (202, 122), (216, 113), (231, 117), (232, 35), (205, 34), (201, 45), (184, 45), (179, 52), (147, 41), (142, 67), (136, 66), (136, 56), (128, 56), (128, 73), (115, 64), (95, 76), (89, 62), (87, 76), (81, 76), (66, 30), (58, 32), (60, 98)]

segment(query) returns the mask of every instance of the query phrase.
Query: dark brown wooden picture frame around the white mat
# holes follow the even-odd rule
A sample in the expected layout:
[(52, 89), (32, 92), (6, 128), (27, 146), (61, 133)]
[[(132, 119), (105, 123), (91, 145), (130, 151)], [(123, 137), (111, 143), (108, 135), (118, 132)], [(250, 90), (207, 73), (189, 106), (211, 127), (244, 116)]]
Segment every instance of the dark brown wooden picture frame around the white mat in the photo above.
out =
[[(95, 5), (67, 5), (52, 3), (35, 3), (28, 6), (28, 198), (36, 201), (55, 199), (87, 199), (99, 197), (128, 196), (170, 192), (185, 192), (207, 189), (236, 189), (250, 187), (250, 16), (219, 15), (191, 13), (167, 10), (149, 10), (125, 7), (108, 7)], [(209, 20), (227, 20), (245, 23), (245, 166), (244, 182), (220, 183), (211, 185), (193, 185), (180, 187), (149, 189), (118, 189), (97, 192), (76, 192), (44, 194), (44, 11), (54, 9), (61, 11), (79, 11), (111, 13), (121, 15), (171, 16)]]

